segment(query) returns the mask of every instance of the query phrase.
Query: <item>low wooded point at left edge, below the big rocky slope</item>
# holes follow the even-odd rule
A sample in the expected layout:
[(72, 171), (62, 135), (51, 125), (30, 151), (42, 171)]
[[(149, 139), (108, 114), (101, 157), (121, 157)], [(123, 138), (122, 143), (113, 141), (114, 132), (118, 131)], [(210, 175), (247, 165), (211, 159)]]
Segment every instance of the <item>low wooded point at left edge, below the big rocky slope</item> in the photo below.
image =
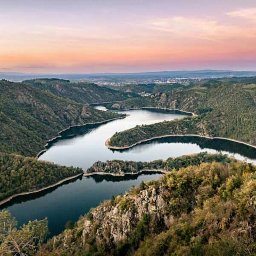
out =
[(13, 194), (44, 188), (81, 172), (81, 168), (0, 153), (0, 200)]

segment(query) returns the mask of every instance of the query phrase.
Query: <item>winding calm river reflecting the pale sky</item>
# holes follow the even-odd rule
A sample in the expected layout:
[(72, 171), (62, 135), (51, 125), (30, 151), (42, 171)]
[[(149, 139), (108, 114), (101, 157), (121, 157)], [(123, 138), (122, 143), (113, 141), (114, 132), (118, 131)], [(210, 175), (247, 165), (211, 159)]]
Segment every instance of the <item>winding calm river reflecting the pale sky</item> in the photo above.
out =
[[(102, 106), (96, 108), (102, 109)], [(142, 143), (123, 151), (112, 151), (105, 147), (105, 141), (116, 131), (123, 131), (135, 125), (151, 124), (163, 120), (184, 117), (183, 114), (159, 110), (123, 111), (131, 114), (125, 119), (114, 120), (103, 125), (87, 125), (63, 132), (62, 138), (53, 141), (40, 160), (48, 160), (66, 166), (87, 170), (95, 161), (167, 159), (183, 154), (208, 151), (222, 151), (236, 158), (248, 161), (256, 159), (256, 149), (227, 140), (209, 140), (198, 137), (169, 137)], [(17, 218), (19, 224), (35, 218), (47, 217), (51, 236), (61, 233), (68, 220), (76, 221), (90, 207), (127, 191), (131, 185), (142, 180), (158, 179), (160, 174), (129, 175), (124, 177), (93, 176), (81, 177), (34, 195), (15, 198), (4, 207)]]

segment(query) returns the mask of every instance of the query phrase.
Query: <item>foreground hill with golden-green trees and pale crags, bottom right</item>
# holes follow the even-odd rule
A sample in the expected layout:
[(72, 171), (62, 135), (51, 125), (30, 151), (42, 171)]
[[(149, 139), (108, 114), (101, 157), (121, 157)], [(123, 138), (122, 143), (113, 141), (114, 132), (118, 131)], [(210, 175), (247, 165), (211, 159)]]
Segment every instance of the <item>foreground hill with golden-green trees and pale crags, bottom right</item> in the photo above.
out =
[(256, 255), (256, 167), (201, 163), (92, 208), (37, 256)]

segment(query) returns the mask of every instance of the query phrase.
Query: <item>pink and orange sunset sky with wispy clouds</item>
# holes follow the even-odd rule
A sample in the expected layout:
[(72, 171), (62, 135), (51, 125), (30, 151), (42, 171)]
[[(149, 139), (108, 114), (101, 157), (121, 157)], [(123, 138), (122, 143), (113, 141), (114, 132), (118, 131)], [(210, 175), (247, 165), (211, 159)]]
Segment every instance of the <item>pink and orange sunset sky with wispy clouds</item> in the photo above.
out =
[(0, 0), (0, 72), (256, 70), (256, 0)]

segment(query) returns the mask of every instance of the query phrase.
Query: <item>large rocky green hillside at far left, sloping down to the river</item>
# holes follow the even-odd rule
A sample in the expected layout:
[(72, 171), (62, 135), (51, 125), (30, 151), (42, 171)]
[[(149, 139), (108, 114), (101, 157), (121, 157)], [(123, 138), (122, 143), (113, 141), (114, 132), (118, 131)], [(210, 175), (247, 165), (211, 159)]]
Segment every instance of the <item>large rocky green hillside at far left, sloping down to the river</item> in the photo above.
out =
[(32, 85), (0, 81), (0, 151), (36, 156), (47, 140), (70, 125), (119, 114), (59, 98)]

